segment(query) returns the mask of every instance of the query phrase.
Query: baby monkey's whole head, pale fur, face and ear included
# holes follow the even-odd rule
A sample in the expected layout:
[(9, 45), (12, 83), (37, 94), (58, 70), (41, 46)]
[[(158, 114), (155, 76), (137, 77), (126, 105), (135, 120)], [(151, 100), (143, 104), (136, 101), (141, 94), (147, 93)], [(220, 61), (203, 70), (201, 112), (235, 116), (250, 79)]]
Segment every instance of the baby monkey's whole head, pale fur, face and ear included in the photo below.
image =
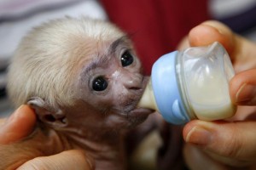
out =
[(8, 91), (15, 105), (32, 105), (50, 127), (116, 129), (152, 112), (137, 109), (147, 82), (124, 32), (101, 20), (64, 18), (23, 38)]

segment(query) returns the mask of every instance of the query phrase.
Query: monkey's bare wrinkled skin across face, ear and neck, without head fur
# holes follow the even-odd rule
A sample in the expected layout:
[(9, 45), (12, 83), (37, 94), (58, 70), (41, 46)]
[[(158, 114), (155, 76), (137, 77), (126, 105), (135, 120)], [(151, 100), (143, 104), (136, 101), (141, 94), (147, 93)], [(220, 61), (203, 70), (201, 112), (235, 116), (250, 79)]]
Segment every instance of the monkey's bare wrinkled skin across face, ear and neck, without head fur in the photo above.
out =
[[(75, 96), (73, 104), (59, 103), (56, 108), (44, 97), (30, 96), (27, 104), (36, 112), (38, 125), (32, 135), (10, 146), (4, 159), (0, 158), (0, 169), (15, 169), (35, 157), (73, 149), (84, 150), (92, 157), (96, 170), (125, 169), (125, 134), (153, 112), (137, 109), (148, 77), (143, 76), (140, 61), (125, 34), (89, 38), (89, 42), (79, 48), (91, 50), (76, 63), (70, 87)], [(103, 83), (96, 84), (98, 77)], [(41, 86), (47, 86), (44, 83)], [(19, 154), (10, 157), (10, 152)]]

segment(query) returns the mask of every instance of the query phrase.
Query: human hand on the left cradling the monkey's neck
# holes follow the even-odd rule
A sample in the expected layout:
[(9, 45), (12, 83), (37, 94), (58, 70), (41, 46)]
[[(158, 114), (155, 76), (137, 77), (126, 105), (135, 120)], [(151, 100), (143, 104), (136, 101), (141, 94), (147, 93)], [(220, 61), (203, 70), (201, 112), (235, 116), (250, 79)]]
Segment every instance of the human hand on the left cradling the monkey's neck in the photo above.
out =
[[(21, 105), (8, 119), (0, 119), (0, 154), (2, 156), (6, 155), (6, 150), (14, 149), (17, 146), (15, 145), (17, 142), (30, 136), (35, 125), (36, 115), (28, 105)], [(15, 154), (19, 155), (21, 153)], [(5, 159), (3, 158), (2, 161), (5, 161)], [(20, 164), (20, 162), (22, 160), (15, 162), (8, 169), (65, 170), (73, 169), (74, 167), (83, 170), (94, 169), (93, 160), (83, 150), (67, 150), (53, 156), (36, 157), (23, 164)]]

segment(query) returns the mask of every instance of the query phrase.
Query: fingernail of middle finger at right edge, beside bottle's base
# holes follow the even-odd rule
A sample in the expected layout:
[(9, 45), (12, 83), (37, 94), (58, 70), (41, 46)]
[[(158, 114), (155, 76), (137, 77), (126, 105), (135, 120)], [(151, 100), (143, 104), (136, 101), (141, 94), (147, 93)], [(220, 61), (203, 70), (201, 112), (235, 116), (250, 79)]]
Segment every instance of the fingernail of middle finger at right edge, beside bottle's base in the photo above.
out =
[(249, 102), (256, 94), (256, 87), (251, 84), (243, 84), (236, 93), (236, 103)]

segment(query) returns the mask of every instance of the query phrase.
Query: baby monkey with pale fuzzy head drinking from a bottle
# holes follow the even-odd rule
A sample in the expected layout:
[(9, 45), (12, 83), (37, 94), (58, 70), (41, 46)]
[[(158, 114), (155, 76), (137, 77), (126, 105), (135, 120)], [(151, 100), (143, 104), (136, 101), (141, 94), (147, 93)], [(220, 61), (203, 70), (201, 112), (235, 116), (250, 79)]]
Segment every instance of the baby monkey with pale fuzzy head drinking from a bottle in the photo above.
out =
[(34, 28), (15, 52), (8, 81), (9, 98), (31, 105), (38, 127), (16, 144), (22, 152), (1, 156), (0, 169), (71, 149), (94, 158), (96, 170), (125, 169), (125, 132), (152, 113), (137, 108), (148, 77), (131, 40), (101, 20), (67, 17)]

